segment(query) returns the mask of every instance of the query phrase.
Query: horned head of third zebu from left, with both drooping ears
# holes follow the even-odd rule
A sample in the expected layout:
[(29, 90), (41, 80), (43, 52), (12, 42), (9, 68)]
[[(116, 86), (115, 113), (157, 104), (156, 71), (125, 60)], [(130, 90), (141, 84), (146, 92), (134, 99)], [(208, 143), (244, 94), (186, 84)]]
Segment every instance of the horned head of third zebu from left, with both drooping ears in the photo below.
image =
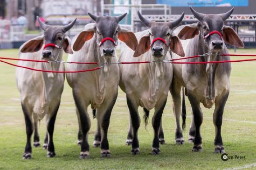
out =
[(166, 55), (168, 48), (178, 55), (184, 57), (183, 48), (179, 37), (173, 34), (173, 27), (178, 26), (184, 17), (184, 12), (180, 18), (171, 22), (155, 22), (145, 19), (139, 12), (138, 17), (141, 22), (149, 27), (149, 30), (139, 40), (138, 46), (133, 57), (138, 57), (141, 54), (150, 50), (155, 58), (161, 58)]

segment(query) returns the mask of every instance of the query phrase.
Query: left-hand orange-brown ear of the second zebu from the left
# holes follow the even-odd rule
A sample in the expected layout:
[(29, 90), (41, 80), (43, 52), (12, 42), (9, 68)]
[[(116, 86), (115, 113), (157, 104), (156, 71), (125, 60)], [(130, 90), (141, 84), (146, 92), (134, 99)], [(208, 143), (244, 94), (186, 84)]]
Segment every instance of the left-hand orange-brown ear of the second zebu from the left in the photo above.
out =
[(75, 39), (75, 42), (73, 45), (73, 50), (75, 52), (79, 51), (83, 47), (83, 44), (93, 37), (95, 33), (95, 29), (96, 29), (96, 26), (95, 24), (92, 24), (92, 23), (84, 26), (84, 30), (81, 33), (79, 33)]

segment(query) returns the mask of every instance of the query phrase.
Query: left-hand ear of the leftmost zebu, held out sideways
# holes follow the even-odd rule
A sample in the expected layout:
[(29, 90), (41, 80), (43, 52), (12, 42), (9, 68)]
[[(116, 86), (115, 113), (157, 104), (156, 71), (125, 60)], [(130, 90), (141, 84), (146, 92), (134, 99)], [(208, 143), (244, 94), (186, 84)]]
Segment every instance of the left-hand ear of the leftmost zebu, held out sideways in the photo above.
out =
[(41, 50), (43, 45), (43, 35), (39, 37), (35, 37), (34, 39), (30, 39), (27, 42), (25, 42), (21, 46), (21, 52), (38, 52)]

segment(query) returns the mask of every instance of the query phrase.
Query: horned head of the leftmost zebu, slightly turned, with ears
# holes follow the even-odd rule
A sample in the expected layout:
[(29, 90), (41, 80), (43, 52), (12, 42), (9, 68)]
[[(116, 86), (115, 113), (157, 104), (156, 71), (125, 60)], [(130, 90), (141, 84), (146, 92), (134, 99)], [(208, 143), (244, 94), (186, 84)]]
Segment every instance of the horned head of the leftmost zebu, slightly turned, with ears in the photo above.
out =
[(37, 17), (37, 21), (44, 31), (43, 35), (29, 40), (21, 47), (21, 52), (37, 52), (44, 45), (42, 59), (46, 60), (59, 59), (62, 48), (67, 53), (73, 53), (71, 40), (65, 33), (74, 26), (76, 19), (66, 26), (49, 26), (43, 23), (39, 17)]

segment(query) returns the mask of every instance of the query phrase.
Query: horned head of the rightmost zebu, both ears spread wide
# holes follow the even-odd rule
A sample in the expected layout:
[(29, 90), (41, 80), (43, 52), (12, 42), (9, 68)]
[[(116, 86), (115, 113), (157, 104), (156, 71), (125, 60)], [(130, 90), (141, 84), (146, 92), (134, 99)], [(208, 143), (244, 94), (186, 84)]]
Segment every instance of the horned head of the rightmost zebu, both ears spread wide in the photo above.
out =
[(178, 35), (180, 39), (191, 39), (200, 33), (209, 52), (221, 52), (224, 42), (232, 46), (244, 47), (235, 31), (224, 25), (224, 21), (228, 19), (234, 8), (222, 14), (203, 14), (196, 12), (193, 8), (190, 10), (199, 22), (185, 26)]

